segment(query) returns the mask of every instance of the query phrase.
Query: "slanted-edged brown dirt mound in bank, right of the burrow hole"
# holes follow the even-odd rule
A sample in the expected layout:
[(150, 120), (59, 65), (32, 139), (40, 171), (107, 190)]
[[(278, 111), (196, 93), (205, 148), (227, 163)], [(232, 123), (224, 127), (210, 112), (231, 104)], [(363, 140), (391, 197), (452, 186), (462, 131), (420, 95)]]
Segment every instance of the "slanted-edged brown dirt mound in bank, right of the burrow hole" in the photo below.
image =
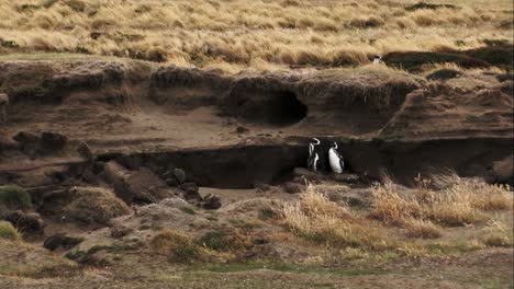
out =
[(512, 108), (512, 95), (501, 86), (462, 93), (458, 88), (434, 84), (409, 94), (381, 134), (426, 138), (483, 131), (483, 136), (506, 137), (513, 128)]

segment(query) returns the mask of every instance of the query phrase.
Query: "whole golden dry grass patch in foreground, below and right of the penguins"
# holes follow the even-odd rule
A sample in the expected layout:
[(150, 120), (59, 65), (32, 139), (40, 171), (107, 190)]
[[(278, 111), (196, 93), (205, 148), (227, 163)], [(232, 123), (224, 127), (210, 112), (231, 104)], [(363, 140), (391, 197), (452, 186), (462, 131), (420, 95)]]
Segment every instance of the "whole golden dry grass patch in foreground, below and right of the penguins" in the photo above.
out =
[[(493, 216), (513, 209), (513, 193), (507, 186), (460, 178), (452, 172), (435, 175), (433, 180), (417, 177), (416, 182), (414, 189), (395, 185), (389, 178), (376, 184), (369, 211), (328, 199), (326, 194), (337, 189), (333, 185), (309, 184), (298, 201), (283, 204), (281, 220), (297, 236), (336, 247), (403, 250), (410, 243), (401, 241), (399, 229), (394, 228), (400, 228), (407, 238), (437, 239), (444, 235), (445, 227), (479, 223), (488, 230), (482, 244), (512, 243), (504, 224)], [(440, 188), (434, 189), (436, 186)], [(342, 187), (338, 194), (345, 192), (348, 189)]]

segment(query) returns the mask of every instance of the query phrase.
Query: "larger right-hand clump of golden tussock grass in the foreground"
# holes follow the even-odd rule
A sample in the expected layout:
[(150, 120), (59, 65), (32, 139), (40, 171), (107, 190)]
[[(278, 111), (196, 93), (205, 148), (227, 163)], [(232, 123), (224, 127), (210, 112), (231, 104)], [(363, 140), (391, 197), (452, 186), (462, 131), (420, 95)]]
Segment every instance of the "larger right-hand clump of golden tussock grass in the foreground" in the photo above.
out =
[[(484, 211), (512, 210), (513, 195), (504, 185), (490, 185), (483, 180), (465, 180), (456, 174), (434, 177), (440, 190), (429, 188), (432, 181), (417, 178), (418, 187), (413, 194), (402, 194), (396, 185), (387, 180), (372, 188), (372, 218), (384, 223), (411, 228), (413, 220), (427, 220), (443, 226), (463, 226), (483, 222)], [(434, 229), (434, 227), (432, 227)]]

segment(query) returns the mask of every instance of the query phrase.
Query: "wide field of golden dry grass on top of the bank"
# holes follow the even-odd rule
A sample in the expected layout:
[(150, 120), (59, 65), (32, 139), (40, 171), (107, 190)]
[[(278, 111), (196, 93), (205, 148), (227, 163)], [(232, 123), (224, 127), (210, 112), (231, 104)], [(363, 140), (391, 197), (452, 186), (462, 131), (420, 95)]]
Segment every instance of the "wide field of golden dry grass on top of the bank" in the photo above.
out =
[(373, 54), (474, 48), (484, 39), (512, 43), (511, 1), (450, 2), (458, 8), (406, 11), (413, 0), (0, 0), (0, 42), (19, 50), (228, 71), (362, 65)]

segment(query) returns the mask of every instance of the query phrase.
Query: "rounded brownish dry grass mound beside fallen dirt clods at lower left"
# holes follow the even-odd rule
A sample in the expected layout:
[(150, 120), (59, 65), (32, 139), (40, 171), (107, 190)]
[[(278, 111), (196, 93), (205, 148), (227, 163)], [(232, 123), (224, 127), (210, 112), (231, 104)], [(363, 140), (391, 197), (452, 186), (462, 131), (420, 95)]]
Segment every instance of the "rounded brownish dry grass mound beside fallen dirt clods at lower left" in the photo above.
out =
[(102, 187), (74, 187), (72, 201), (64, 208), (65, 215), (74, 219), (107, 224), (112, 218), (131, 212), (131, 208), (116, 195)]

